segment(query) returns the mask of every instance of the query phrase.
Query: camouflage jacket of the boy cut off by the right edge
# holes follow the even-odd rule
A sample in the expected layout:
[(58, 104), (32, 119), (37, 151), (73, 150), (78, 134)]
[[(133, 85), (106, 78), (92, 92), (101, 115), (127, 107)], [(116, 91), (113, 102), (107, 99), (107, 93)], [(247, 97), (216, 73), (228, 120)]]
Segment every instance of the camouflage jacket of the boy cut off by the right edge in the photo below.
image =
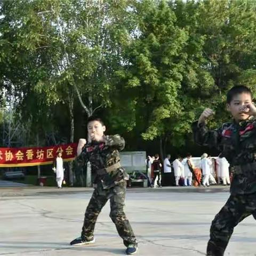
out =
[[(205, 124), (192, 125), (194, 140), (202, 146), (215, 147), (221, 151), (232, 166), (256, 162), (256, 119), (223, 124), (219, 129), (209, 131)], [(256, 171), (256, 170), (255, 170)], [(234, 173), (230, 186), (231, 194), (256, 192), (256, 172)]]

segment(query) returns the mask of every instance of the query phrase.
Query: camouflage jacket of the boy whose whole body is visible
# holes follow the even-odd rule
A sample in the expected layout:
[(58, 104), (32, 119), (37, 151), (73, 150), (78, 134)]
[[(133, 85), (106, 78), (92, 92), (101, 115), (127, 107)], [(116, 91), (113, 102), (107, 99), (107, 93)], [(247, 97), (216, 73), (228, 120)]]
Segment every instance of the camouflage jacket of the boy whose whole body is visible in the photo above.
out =
[(120, 162), (118, 150), (124, 149), (124, 139), (116, 135), (105, 135), (104, 142), (87, 143), (82, 153), (76, 157), (78, 166), (85, 165), (88, 161), (91, 163), (93, 183), (97, 186), (102, 186), (103, 189), (111, 188), (129, 179), (129, 175), (125, 172), (123, 167), (119, 167), (116, 171), (102, 175), (97, 174), (97, 170), (104, 169), (115, 163)]

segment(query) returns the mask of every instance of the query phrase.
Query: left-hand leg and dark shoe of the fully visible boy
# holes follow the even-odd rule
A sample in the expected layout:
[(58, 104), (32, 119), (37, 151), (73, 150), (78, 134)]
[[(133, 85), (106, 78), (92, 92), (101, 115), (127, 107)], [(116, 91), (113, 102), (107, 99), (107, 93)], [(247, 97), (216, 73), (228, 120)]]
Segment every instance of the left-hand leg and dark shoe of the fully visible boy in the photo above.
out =
[(92, 244), (95, 242), (93, 237), (95, 223), (102, 207), (107, 203), (107, 201), (108, 199), (106, 196), (101, 196), (99, 195), (97, 189), (94, 190), (85, 211), (84, 225), (81, 236), (71, 241), (70, 245)]

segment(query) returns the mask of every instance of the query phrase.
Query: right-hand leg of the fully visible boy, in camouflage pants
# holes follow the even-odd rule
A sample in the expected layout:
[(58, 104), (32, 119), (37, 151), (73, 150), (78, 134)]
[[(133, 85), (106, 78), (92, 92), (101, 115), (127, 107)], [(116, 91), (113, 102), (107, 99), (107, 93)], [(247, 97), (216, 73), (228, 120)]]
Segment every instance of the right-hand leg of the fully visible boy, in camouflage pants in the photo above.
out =
[(113, 189), (114, 195), (110, 198), (110, 218), (115, 223), (119, 236), (123, 238), (124, 245), (127, 247), (126, 254), (135, 254), (138, 244), (130, 222), (124, 213), (125, 191), (126, 182)]

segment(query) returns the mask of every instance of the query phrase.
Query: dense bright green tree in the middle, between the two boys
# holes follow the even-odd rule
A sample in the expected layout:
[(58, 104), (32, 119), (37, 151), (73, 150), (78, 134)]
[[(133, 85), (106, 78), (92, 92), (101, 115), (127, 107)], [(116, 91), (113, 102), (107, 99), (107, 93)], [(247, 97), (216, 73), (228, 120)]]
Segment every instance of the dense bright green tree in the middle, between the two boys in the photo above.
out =
[(118, 71), (124, 83), (120, 91), (124, 102), (126, 95), (131, 97), (130, 127), (136, 125), (144, 140), (162, 140), (164, 120), (180, 113), (178, 95), (188, 34), (175, 25), (177, 19), (166, 1), (141, 1), (134, 11), (138, 30), (126, 47), (129, 65)]

